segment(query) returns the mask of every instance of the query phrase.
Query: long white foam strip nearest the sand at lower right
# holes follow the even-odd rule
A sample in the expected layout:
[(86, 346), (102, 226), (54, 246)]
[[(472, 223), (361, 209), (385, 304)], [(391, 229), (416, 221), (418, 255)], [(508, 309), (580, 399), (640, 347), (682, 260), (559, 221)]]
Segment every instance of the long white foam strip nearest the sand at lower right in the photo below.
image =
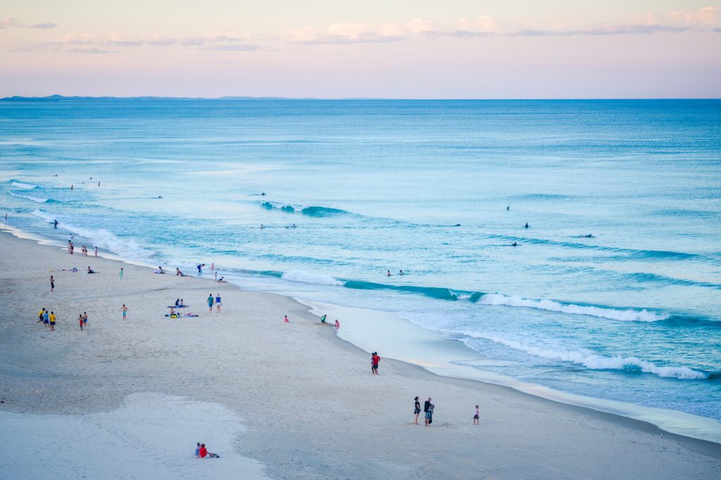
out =
[(647, 360), (641, 360), (639, 357), (603, 357), (586, 350), (554, 350), (536, 345), (526, 345), (522, 342), (516, 342), (515, 340), (505, 339), (492, 334), (482, 334), (478, 332), (461, 333), (473, 338), (487, 339), (491, 342), (505, 345), (506, 347), (511, 347), (514, 350), (520, 350), (521, 352), (526, 352), (536, 357), (583, 365), (586, 368), (590, 368), (590, 370), (640, 371), (653, 373), (660, 377), (680, 378), (682, 380), (698, 380), (708, 377), (705, 373), (692, 370), (688, 367), (659, 367)]

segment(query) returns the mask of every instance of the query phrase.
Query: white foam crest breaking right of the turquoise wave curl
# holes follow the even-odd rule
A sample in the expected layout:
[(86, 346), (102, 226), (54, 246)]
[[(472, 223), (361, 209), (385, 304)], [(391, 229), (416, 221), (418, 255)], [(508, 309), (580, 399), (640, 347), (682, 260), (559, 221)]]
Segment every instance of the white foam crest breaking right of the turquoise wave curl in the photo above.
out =
[(484, 305), (506, 305), (537, 308), (538, 310), (560, 311), (565, 314), (598, 316), (602, 319), (620, 321), (659, 321), (668, 319), (668, 315), (654, 314), (647, 310), (616, 310), (615, 308), (601, 308), (595, 306), (574, 305), (573, 303), (559, 303), (553, 300), (534, 300), (518, 296), (507, 296), (500, 293), (487, 293), (479, 298), (478, 303)]

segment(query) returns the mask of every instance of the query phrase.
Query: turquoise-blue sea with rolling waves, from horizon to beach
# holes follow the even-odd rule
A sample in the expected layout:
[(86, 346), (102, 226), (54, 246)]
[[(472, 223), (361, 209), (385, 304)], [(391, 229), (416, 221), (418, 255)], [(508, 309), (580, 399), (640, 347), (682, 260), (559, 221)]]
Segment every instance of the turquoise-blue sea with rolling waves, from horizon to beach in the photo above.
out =
[(721, 419), (721, 101), (6, 101), (0, 159), (33, 234)]

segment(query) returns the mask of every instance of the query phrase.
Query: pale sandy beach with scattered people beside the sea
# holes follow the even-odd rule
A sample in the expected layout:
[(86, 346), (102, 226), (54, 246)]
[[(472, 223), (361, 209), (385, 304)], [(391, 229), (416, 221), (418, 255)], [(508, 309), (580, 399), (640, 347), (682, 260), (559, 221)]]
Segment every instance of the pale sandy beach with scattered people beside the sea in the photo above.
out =
[[(128, 460), (145, 454), (156, 478), (712, 479), (721, 471), (721, 445), (642, 422), (394, 360), (371, 375), (368, 352), (292, 298), (156, 275), (81, 257), (79, 248), (71, 256), (7, 232), (0, 248), (0, 437), (22, 440), (0, 460), (3, 478), (146, 476)], [(220, 313), (208, 312), (209, 294), (222, 296)], [(199, 316), (164, 316), (176, 298)], [(55, 332), (36, 324), (43, 307), (58, 316)], [(431, 427), (423, 414), (414, 424), (415, 396), (433, 398)], [(221, 458), (199, 465), (197, 441)], [(84, 454), (34, 453), (68, 445)]]

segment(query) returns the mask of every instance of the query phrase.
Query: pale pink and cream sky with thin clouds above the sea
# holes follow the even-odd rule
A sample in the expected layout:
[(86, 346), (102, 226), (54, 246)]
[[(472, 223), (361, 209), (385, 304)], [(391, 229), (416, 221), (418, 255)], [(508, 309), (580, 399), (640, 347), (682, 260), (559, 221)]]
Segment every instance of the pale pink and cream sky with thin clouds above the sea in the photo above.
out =
[(721, 0), (0, 0), (0, 97), (50, 94), (719, 98)]

